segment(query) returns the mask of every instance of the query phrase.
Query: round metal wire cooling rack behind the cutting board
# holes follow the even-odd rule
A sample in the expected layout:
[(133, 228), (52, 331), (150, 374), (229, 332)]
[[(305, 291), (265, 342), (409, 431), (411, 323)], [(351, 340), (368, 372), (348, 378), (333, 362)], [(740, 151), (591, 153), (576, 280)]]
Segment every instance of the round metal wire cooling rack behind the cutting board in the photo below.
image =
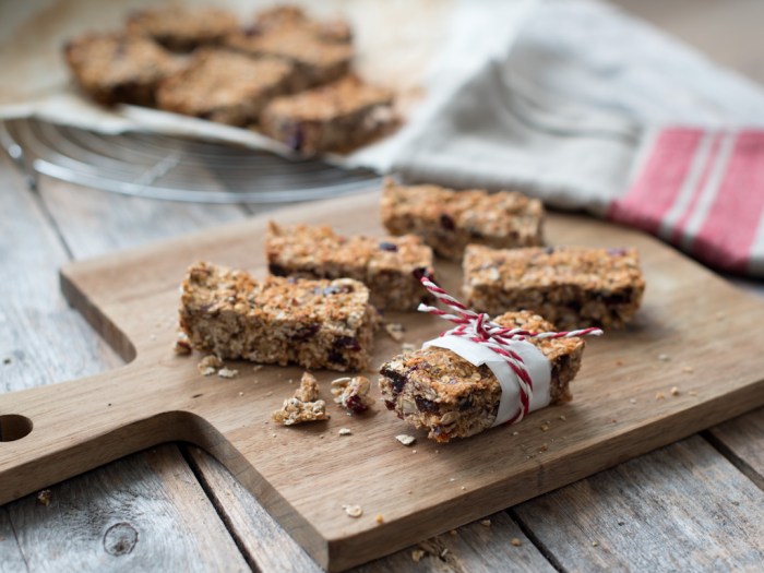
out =
[(0, 144), (39, 175), (127, 195), (201, 203), (283, 203), (368, 189), (380, 176), (319, 159), (180, 136), (96, 133), (38, 119), (0, 123)]

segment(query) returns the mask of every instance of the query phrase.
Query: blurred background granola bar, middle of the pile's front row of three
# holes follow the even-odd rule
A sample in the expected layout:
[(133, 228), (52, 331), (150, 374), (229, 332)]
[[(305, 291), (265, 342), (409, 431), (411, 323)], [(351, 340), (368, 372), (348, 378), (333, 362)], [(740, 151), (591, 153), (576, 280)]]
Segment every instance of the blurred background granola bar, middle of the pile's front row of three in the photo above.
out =
[(230, 126), (254, 123), (275, 95), (286, 92), (294, 69), (274, 59), (253, 59), (200, 48), (189, 67), (159, 86), (160, 109)]

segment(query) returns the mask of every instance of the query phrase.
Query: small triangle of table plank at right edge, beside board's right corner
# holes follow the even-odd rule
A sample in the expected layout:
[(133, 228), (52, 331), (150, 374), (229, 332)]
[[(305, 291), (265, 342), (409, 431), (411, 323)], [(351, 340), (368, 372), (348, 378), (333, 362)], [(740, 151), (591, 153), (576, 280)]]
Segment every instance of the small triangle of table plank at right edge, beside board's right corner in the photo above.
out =
[(764, 408), (715, 426), (706, 437), (764, 490)]

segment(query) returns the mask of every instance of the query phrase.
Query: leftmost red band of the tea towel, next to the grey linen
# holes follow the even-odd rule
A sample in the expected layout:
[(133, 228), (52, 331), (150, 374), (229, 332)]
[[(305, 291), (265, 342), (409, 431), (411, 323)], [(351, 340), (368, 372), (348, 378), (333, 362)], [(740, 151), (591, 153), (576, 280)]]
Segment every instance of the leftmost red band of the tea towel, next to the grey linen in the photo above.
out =
[(693, 128), (662, 131), (626, 194), (610, 204), (608, 217), (656, 234), (688, 176), (703, 134)]

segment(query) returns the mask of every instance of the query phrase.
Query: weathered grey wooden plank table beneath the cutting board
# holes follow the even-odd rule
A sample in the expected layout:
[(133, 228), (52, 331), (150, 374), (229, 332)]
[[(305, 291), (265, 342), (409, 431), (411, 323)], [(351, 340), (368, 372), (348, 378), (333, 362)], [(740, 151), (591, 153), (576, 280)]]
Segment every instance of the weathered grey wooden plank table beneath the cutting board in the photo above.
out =
[[(712, 24), (709, 16), (704, 25)], [(63, 263), (262, 211), (124, 198), (48, 179), (29, 190), (0, 160), (0, 392), (120, 363), (67, 307), (57, 274)], [(744, 286), (764, 296), (761, 283)], [(490, 525), (474, 523), (359, 570), (761, 570), (763, 490), (759, 409), (510, 508)], [(415, 550), (425, 551), (418, 563)], [(29, 496), (0, 508), (0, 571), (249, 569), (319, 571), (219, 464), (184, 444), (61, 482), (49, 504)]]

